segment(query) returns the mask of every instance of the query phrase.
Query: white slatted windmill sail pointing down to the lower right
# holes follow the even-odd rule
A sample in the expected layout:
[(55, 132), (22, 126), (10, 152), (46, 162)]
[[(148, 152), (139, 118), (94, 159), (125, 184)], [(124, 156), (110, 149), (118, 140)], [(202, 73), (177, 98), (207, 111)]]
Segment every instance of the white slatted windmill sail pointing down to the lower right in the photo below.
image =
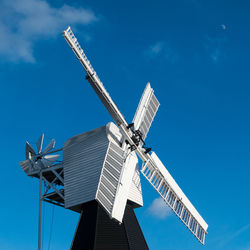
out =
[(151, 159), (142, 168), (142, 174), (194, 236), (204, 244), (208, 228), (207, 223), (154, 152), (151, 154)]

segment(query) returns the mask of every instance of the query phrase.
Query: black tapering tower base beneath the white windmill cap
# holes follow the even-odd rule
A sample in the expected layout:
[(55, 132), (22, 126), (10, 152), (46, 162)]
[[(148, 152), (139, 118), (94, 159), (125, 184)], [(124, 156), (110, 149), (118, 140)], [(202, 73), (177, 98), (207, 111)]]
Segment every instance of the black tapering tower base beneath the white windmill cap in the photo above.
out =
[(84, 204), (71, 250), (148, 250), (133, 207), (127, 203), (123, 223), (110, 219), (96, 202)]

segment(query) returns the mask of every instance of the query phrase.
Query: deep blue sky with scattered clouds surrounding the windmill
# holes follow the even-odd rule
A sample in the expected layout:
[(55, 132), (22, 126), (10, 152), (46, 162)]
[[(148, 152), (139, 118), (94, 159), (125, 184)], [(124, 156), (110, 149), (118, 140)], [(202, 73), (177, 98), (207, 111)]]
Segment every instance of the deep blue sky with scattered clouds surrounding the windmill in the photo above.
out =
[[(209, 225), (203, 247), (142, 179), (136, 214), (150, 249), (250, 249), (248, 1), (1, 0), (0, 8), (1, 249), (37, 246), (39, 184), (18, 165), (25, 141), (45, 133), (61, 147), (111, 120), (61, 35), (68, 25), (128, 121), (151, 82), (161, 106), (147, 144)], [(44, 209), (48, 249), (53, 207)], [(50, 249), (69, 249), (78, 215), (54, 213)]]

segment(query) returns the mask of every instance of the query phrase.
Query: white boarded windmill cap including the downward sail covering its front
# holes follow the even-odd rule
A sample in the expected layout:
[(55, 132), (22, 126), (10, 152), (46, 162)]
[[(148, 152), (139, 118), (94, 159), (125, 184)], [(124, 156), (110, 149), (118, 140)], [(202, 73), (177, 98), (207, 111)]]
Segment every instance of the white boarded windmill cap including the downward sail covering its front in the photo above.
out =
[(65, 208), (81, 211), (83, 203), (96, 200), (122, 223), (128, 199), (134, 207), (143, 205), (137, 156), (121, 145), (122, 135), (111, 122), (66, 141)]

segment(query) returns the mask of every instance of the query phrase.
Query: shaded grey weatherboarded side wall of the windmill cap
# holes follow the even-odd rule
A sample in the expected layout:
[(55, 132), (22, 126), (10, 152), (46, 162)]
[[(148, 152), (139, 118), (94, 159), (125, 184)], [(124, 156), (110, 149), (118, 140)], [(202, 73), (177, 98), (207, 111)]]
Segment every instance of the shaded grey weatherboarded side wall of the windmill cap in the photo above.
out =
[(108, 146), (106, 126), (66, 141), (63, 148), (66, 208), (95, 199)]

